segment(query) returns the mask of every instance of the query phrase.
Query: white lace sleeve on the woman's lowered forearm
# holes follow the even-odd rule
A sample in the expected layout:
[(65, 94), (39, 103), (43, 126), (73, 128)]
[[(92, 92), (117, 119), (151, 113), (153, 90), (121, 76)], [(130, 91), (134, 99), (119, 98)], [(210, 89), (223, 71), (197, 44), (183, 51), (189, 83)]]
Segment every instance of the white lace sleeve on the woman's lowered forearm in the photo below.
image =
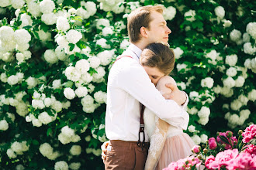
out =
[(151, 141), (150, 141), (150, 148), (149, 148), (149, 153), (152, 155), (152, 158), (156, 158), (157, 151), (160, 151), (161, 149), (161, 144), (164, 142), (166, 133), (161, 134), (159, 128), (157, 128), (157, 125), (159, 124), (159, 118), (156, 116), (155, 117), (155, 124), (156, 128), (154, 133), (151, 136)]

